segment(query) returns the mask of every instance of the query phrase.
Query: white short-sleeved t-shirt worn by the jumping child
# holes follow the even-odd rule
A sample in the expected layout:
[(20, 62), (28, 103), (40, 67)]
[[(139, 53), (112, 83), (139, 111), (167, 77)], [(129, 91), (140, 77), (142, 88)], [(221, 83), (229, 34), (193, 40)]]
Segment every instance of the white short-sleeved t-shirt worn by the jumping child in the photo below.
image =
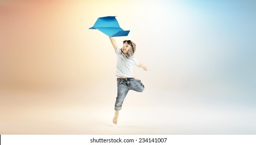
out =
[(116, 76), (133, 78), (132, 66), (135, 64), (139, 66), (138, 61), (133, 56), (132, 59), (121, 55), (121, 49), (117, 48), (115, 53), (117, 54), (117, 63), (116, 63)]

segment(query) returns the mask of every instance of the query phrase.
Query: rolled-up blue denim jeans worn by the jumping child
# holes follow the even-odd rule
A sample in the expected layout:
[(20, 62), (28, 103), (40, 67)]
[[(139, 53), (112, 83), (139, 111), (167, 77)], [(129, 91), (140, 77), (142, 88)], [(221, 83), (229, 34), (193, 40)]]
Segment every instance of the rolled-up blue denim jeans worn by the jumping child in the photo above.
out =
[(142, 92), (144, 85), (140, 80), (135, 78), (117, 78), (117, 97), (115, 103), (115, 110), (119, 111), (122, 109), (122, 104), (129, 90), (136, 92)]

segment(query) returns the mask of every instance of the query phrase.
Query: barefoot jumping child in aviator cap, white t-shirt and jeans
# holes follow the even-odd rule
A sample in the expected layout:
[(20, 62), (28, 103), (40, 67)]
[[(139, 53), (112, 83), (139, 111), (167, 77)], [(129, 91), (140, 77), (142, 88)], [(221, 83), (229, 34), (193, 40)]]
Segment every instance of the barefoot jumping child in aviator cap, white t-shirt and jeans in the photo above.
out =
[(136, 44), (131, 40), (123, 41), (123, 47), (118, 48), (116, 41), (113, 37), (109, 37), (111, 44), (117, 54), (116, 76), (117, 76), (117, 97), (115, 103), (115, 115), (113, 123), (117, 124), (119, 110), (122, 108), (122, 104), (129, 90), (142, 92), (144, 85), (138, 79), (133, 78), (132, 66), (135, 64), (138, 67), (148, 70), (147, 67), (138, 63), (134, 53), (136, 51)]

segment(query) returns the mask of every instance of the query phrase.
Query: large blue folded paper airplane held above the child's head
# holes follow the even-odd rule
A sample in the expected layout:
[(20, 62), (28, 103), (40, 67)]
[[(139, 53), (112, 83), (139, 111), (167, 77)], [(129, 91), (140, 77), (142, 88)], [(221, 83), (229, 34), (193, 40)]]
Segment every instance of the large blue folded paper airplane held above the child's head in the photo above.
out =
[(107, 16), (98, 18), (93, 27), (89, 29), (97, 29), (109, 37), (127, 36), (130, 31), (124, 31), (120, 28), (116, 16)]

